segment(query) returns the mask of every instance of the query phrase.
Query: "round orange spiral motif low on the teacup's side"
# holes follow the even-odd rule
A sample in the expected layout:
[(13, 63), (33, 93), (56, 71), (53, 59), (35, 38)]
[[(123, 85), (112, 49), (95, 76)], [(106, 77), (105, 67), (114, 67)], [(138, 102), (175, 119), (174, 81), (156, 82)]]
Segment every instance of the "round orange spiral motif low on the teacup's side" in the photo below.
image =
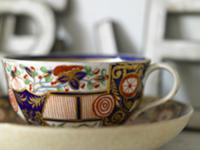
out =
[(103, 95), (96, 98), (93, 103), (94, 113), (100, 117), (108, 117), (115, 107), (115, 101), (111, 95)]

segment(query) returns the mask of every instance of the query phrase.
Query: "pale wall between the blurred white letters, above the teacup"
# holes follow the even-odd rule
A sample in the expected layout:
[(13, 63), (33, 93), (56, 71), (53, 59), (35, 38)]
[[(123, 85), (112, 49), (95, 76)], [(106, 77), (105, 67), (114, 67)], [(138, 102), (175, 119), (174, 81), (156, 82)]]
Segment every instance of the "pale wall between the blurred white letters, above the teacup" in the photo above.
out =
[(66, 26), (73, 38), (70, 50), (97, 52), (95, 24), (104, 19), (116, 22), (116, 36), (122, 52), (143, 47), (146, 0), (71, 0)]

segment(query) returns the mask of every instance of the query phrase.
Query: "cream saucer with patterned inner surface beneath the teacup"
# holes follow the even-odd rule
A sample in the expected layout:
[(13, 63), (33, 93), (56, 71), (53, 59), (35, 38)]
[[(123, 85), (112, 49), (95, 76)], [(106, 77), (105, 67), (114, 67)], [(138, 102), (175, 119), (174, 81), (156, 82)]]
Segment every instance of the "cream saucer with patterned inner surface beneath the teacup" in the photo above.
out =
[[(151, 99), (155, 98), (146, 97), (144, 101), (149, 102)], [(152, 150), (159, 148), (180, 133), (187, 125), (192, 112), (193, 108), (190, 105), (171, 100), (146, 111), (136, 120), (130, 117), (124, 125), (104, 128), (36, 127), (26, 125), (11, 115), (12, 118), (6, 121), (12, 123), (0, 124), (0, 148), (6, 150)]]

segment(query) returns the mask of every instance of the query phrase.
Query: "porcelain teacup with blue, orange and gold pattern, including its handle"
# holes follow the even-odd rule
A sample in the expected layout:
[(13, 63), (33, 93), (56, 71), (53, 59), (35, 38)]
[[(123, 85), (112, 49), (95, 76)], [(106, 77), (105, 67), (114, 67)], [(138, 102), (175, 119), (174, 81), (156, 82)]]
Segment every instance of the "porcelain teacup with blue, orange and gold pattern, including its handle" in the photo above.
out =
[[(179, 87), (170, 66), (131, 55), (6, 57), (3, 65), (13, 109), (35, 125), (119, 125), (165, 103)], [(139, 108), (145, 81), (157, 69), (172, 74), (172, 90)]]

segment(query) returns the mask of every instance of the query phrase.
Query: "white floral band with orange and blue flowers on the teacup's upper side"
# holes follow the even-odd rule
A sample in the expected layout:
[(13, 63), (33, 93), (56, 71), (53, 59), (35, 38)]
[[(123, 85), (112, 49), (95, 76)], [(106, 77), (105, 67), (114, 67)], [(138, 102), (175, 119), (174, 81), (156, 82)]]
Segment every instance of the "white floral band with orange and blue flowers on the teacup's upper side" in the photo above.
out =
[(41, 66), (4, 64), (15, 90), (27, 89), (34, 93), (48, 91), (71, 92), (101, 90), (107, 87), (109, 78), (106, 68), (82, 65), (59, 65), (53, 69)]

